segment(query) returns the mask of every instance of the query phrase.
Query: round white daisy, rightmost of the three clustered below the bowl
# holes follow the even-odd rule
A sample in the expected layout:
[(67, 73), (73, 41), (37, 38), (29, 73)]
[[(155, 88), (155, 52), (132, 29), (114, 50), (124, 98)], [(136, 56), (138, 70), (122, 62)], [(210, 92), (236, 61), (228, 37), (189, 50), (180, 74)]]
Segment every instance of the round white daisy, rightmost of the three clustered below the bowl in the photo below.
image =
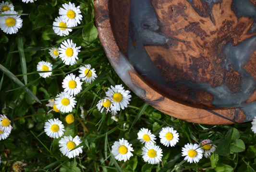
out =
[(159, 132), (159, 138), (164, 146), (173, 147), (179, 141), (179, 133), (172, 127), (165, 127)]

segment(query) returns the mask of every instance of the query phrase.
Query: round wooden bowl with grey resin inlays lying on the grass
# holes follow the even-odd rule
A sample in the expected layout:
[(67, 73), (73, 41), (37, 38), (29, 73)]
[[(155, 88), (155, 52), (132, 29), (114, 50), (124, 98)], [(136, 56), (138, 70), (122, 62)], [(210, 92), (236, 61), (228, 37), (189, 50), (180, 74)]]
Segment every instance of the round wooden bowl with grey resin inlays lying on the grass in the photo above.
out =
[(151, 106), (202, 124), (256, 110), (256, 0), (96, 0), (107, 57)]

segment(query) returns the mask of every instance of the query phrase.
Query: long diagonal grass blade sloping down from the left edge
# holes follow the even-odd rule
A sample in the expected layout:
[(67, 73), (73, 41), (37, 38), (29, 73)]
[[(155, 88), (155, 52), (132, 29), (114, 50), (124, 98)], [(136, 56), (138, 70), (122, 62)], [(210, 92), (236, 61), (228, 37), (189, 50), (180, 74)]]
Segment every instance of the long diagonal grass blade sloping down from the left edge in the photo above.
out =
[[(12, 79), (18, 86), (24, 86), (24, 84), (15, 75), (13, 75), (11, 71), (6, 69), (2, 64), (0, 64), (0, 70), (3, 73), (5, 73), (5, 75), (7, 75), (10, 79)], [(34, 95), (34, 93), (30, 89), (28, 89), (27, 87), (23, 89), (27, 94), (29, 94), (31, 97), (37, 100), (37, 102), (39, 102), (39, 99), (36, 97), (36, 95)], [(39, 103), (42, 104), (41, 102)]]

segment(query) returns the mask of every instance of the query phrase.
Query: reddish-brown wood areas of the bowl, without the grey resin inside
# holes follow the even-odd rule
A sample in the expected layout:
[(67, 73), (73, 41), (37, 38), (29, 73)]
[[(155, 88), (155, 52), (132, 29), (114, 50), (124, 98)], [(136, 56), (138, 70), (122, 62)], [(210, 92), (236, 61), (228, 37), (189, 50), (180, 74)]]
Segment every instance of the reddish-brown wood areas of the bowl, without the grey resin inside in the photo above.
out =
[[(210, 3), (211, 2), (211, 3)], [(250, 0), (255, 5), (255, 0)], [(232, 0), (150, 0), (159, 26), (157, 31), (168, 37), (165, 44), (146, 43), (144, 48), (167, 83), (186, 80), (207, 83), (212, 88), (226, 86), (231, 93), (240, 91), (243, 76), (235, 66), (223, 66), (228, 43), (239, 46), (256, 35), (252, 17), (236, 16)], [(203, 124), (233, 124), (246, 119), (243, 107), (215, 107), (215, 96), (200, 88), (174, 84), (163, 86), (138, 73), (129, 63), (131, 0), (95, 0), (95, 17), (99, 38), (107, 57), (123, 82), (151, 106), (175, 118)], [(118, 15), (122, 13), (122, 15)], [(150, 30), (150, 25), (145, 25)], [(131, 33), (131, 32), (130, 32)], [(243, 69), (256, 79), (256, 52), (244, 62)], [(125, 77), (124, 77), (125, 76)], [(161, 90), (161, 91), (159, 91)], [(256, 100), (256, 90), (246, 103)], [(170, 95), (172, 96), (170, 98)]]

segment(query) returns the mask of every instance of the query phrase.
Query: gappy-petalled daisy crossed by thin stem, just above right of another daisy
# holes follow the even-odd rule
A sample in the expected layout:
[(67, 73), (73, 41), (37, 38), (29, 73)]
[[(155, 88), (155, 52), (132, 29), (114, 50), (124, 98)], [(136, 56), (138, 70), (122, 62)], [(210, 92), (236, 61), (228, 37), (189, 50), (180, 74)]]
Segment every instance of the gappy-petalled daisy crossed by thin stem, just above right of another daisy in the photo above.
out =
[(85, 81), (85, 83), (91, 84), (97, 78), (96, 71), (94, 68), (91, 69), (90, 64), (85, 64), (79, 68), (79, 77)]

